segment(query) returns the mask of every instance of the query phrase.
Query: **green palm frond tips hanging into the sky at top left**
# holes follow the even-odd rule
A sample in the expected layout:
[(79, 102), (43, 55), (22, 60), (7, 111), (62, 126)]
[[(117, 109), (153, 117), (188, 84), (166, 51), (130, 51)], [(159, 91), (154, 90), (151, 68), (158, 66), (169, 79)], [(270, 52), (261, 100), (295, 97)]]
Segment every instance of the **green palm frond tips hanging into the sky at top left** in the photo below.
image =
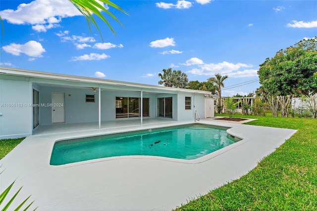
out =
[[(93, 14), (96, 14), (100, 19), (102, 19), (106, 25), (110, 28), (110, 30), (112, 31), (112, 33), (115, 35), (114, 30), (112, 29), (112, 27), (110, 26), (109, 22), (106, 20), (105, 16), (101, 13), (100, 10), (106, 12), (108, 15), (110, 15), (116, 22), (118, 22), (121, 26), (123, 26), (120, 21), (111, 13), (109, 12), (102, 4), (100, 4), (98, 1), (101, 1), (105, 4), (107, 4), (108, 6), (111, 6), (115, 9), (118, 9), (119, 11), (123, 12), (124, 14), (128, 13), (126, 11), (124, 11), (123, 9), (121, 9), (118, 5), (116, 5), (115, 3), (111, 2), (110, 0), (69, 0), (79, 11), (80, 13), (82, 13), (87, 21), (88, 27), (89, 27), (89, 31), (91, 32), (91, 28), (90, 28), (90, 24), (95, 25), (100, 37), (103, 39), (103, 36), (99, 30), (99, 27), (93, 17)], [(0, 16), (0, 23), (1, 23), (1, 29), (2, 29), (2, 36), (4, 35), (4, 29), (3, 29), (3, 24), (2, 24), (2, 19)]]

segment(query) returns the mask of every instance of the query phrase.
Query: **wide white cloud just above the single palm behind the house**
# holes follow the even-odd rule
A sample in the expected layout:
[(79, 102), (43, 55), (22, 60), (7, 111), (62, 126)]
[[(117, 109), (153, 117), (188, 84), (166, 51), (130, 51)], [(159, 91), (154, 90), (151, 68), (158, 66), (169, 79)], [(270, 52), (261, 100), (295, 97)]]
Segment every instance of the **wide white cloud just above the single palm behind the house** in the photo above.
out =
[(227, 61), (223, 61), (220, 63), (209, 63), (200, 65), (200, 68), (194, 68), (189, 73), (194, 75), (214, 75), (215, 73), (228, 74), (233, 71), (239, 70), (241, 67), (252, 67), (251, 64), (243, 64), (243, 63), (230, 63)]

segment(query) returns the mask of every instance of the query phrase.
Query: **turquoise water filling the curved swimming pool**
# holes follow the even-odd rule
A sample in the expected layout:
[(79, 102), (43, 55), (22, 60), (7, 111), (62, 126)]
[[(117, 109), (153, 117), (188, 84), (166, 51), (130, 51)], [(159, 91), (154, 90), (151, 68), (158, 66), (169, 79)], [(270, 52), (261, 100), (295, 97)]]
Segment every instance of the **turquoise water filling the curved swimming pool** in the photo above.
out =
[(178, 127), (58, 141), (51, 165), (115, 156), (159, 156), (195, 159), (236, 141), (226, 129), (193, 124)]

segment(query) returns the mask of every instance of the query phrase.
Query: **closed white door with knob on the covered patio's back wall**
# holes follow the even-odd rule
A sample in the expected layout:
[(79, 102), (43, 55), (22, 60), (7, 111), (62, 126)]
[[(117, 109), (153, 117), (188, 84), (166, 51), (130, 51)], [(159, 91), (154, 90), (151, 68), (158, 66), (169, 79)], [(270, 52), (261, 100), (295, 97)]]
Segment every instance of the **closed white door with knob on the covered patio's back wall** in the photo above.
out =
[(65, 122), (65, 93), (52, 93), (52, 123)]

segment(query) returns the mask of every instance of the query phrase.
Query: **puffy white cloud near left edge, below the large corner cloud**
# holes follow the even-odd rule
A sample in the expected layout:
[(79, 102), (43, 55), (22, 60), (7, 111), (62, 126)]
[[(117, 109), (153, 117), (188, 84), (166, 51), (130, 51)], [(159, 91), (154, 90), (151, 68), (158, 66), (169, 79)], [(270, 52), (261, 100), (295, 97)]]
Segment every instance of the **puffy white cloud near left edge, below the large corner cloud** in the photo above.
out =
[(41, 43), (36, 41), (29, 41), (22, 45), (11, 43), (10, 45), (3, 46), (2, 49), (6, 53), (11, 53), (13, 55), (20, 55), (20, 53), (24, 53), (33, 57), (42, 57), (42, 53), (46, 52)]

